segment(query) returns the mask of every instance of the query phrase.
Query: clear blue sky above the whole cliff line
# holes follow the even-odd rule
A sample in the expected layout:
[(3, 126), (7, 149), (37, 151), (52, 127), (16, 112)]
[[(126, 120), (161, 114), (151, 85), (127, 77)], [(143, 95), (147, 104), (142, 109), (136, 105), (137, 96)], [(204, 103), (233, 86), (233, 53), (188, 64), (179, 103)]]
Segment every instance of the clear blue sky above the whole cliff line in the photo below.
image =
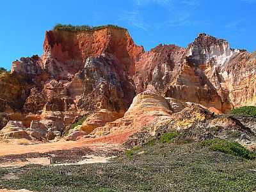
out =
[(233, 48), (256, 50), (256, 0), (3, 0), (0, 66), (42, 54), (46, 30), (57, 23), (115, 24), (146, 50), (159, 43), (186, 47), (198, 33), (225, 38)]

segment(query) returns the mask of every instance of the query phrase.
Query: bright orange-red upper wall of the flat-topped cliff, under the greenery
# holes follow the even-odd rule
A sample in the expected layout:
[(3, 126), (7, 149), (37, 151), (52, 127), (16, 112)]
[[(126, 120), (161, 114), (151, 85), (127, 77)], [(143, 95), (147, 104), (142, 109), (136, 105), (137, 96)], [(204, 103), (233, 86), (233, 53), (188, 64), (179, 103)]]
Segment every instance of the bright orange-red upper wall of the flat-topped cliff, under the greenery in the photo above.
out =
[[(112, 54), (129, 73), (134, 73), (134, 62), (144, 52), (134, 44), (128, 31), (106, 27), (95, 31), (47, 31), (44, 41), (44, 68), (54, 75), (58, 70), (74, 75), (83, 69), (88, 57)], [(52, 59), (56, 61), (52, 62)], [(61, 63), (58, 64), (58, 63)], [(58, 69), (58, 70), (57, 70)], [(63, 74), (64, 75), (64, 74)]]

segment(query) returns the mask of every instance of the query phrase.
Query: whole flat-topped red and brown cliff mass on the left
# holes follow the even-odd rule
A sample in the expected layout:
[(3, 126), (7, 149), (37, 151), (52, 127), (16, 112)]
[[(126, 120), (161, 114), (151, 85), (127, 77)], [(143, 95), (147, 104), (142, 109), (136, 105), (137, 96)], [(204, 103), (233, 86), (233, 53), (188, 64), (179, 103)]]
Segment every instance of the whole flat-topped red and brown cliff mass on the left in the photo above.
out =
[(12, 115), (13, 121), (29, 126), (27, 116), (36, 116), (29, 118), (32, 122), (40, 115), (40, 123), (60, 132), (76, 115), (108, 110), (122, 117), (135, 96), (131, 77), (143, 52), (126, 29), (47, 31), (42, 57), (13, 62), (13, 77), (24, 78), (26, 85), (3, 82), (3, 90), (16, 86), (12, 90), (17, 91), (1, 92), (1, 111), (15, 101), (20, 103), (19, 108), (11, 107), (14, 112), (21, 110), (22, 115), (17, 119)]

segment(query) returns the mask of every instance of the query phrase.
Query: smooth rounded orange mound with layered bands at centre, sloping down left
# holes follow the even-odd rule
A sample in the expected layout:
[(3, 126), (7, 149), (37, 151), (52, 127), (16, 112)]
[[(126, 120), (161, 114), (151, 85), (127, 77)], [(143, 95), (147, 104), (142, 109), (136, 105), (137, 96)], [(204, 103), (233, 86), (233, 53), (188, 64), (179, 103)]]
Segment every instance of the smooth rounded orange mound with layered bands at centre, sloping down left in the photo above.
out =
[[(134, 133), (148, 124), (167, 119), (172, 114), (168, 102), (152, 91), (138, 94), (132, 101), (131, 107), (125, 112), (124, 117), (105, 126), (95, 129), (90, 135), (99, 137), (111, 133), (130, 131)], [(125, 135), (124, 137), (127, 137)]]

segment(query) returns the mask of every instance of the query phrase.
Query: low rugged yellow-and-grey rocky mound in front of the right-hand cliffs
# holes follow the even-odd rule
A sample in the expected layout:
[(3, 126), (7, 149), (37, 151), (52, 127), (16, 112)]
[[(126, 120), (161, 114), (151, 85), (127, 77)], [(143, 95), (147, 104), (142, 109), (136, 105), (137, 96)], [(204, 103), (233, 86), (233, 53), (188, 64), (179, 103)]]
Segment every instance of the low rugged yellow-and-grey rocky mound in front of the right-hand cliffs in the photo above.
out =
[(133, 147), (145, 144), (173, 131), (180, 133), (180, 140), (196, 142), (217, 137), (236, 140), (247, 147), (256, 140), (252, 130), (237, 119), (214, 115), (199, 105), (191, 104), (180, 112), (173, 113), (168, 119), (140, 129), (125, 141), (125, 145)]

